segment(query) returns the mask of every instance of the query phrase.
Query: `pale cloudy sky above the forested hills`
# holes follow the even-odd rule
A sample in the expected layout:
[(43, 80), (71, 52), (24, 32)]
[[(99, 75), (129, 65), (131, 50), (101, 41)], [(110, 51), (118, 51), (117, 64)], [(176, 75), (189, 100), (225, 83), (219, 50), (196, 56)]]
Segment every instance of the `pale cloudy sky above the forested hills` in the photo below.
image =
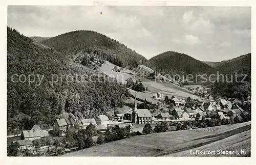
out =
[(28, 37), (91, 30), (146, 59), (177, 51), (216, 62), (251, 52), (250, 7), (8, 6), (8, 26)]

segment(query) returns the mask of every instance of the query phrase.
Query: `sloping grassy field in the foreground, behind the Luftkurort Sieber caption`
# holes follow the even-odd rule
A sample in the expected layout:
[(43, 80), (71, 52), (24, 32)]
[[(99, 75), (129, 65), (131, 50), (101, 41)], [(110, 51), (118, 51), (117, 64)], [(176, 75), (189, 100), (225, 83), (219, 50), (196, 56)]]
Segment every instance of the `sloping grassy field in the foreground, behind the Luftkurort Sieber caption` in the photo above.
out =
[[(250, 151), (250, 124), (246, 122), (134, 136), (62, 156), (201, 156), (190, 155), (190, 150), (235, 150), (237, 148), (243, 148), (248, 152)], [(241, 156), (241, 154), (224, 156)]]

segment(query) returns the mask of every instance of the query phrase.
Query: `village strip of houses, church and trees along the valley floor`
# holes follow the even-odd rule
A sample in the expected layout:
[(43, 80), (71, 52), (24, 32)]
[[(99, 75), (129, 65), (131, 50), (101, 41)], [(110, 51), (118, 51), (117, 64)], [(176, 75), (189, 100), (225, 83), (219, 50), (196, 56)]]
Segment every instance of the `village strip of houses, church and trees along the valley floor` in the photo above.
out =
[[(146, 90), (144, 89), (144, 92), (147, 92)], [(115, 111), (111, 119), (103, 114), (91, 119), (59, 118), (52, 123), (52, 128), (42, 130), (40, 126), (34, 125), (31, 130), (22, 130), (20, 134), (9, 136), (8, 141), (11, 144), (18, 144), (19, 154), (58, 156), (130, 136), (192, 130), (251, 120), (251, 111), (246, 109), (249, 106), (245, 106), (250, 104), (250, 100), (240, 101), (236, 98), (221, 97), (214, 99), (205, 88), (198, 87), (192, 92), (201, 96), (200, 99), (175, 96), (169, 98), (160, 92), (153, 94), (152, 99), (157, 101), (157, 111), (156, 108), (146, 108), (150, 102), (146, 99), (141, 102), (135, 94), (134, 99), (131, 98), (134, 102), (129, 111)], [(141, 102), (139, 106), (143, 108), (138, 108), (137, 102)], [(12, 139), (15, 140), (10, 141)]]

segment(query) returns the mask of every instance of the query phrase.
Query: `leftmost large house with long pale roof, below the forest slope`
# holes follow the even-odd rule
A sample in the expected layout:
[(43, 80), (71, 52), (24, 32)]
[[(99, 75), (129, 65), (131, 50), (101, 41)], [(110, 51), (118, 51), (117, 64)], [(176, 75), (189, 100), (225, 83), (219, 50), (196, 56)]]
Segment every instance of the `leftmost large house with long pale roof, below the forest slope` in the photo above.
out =
[(49, 136), (48, 131), (39, 131), (39, 130), (23, 130), (20, 135), (20, 140), (35, 140), (40, 139), (41, 137)]

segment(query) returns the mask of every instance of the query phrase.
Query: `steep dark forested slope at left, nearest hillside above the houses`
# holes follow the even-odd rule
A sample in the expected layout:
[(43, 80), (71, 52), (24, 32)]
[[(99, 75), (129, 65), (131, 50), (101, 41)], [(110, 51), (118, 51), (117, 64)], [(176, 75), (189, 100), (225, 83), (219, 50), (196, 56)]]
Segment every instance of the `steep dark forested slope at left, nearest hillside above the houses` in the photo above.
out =
[[(31, 129), (33, 124), (51, 125), (59, 117), (93, 118), (122, 107), (126, 88), (116, 80), (73, 81), (67, 77), (53, 83), (53, 74), (92, 75), (97, 72), (70, 60), (62, 53), (7, 28), (7, 130)], [(27, 80), (20, 82), (17, 76)], [(28, 83), (28, 75), (35, 81)], [(42, 76), (44, 77), (42, 78)], [(55, 77), (56, 77), (55, 76)], [(100, 74), (100, 79), (105, 75)], [(38, 79), (38, 77), (40, 79)], [(33, 76), (31, 76), (33, 78)], [(33, 80), (33, 79), (31, 79)], [(40, 83), (41, 80), (41, 83)], [(95, 82), (94, 82), (95, 81)], [(113, 81), (113, 82), (112, 82)]]

